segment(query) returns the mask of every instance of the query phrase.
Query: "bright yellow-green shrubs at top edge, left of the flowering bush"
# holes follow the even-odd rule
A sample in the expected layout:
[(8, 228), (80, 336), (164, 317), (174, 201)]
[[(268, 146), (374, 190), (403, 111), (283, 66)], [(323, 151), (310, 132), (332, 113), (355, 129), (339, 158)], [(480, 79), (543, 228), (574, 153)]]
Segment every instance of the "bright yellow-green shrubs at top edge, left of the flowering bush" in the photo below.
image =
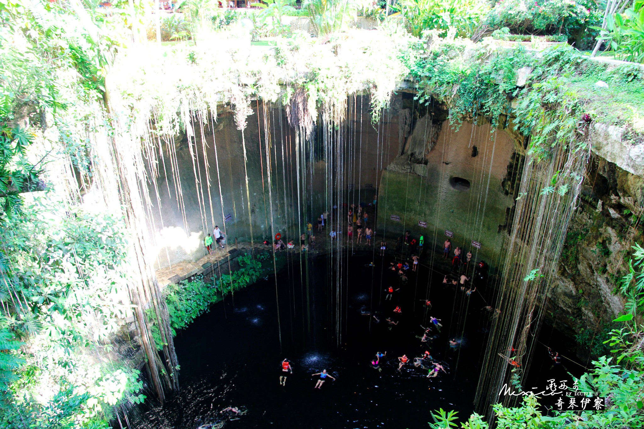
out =
[(401, 12), (415, 37), (424, 30), (439, 30), (444, 36), (450, 28), (460, 37), (471, 37), (487, 11), (479, 0), (399, 0), (392, 7)]

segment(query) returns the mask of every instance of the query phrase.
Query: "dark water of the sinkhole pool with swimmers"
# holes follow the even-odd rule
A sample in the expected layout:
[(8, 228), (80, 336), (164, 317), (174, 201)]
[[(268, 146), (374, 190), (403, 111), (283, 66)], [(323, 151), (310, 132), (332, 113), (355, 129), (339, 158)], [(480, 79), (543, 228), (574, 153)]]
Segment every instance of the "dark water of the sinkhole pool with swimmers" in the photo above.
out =
[[(307, 284), (300, 282), (299, 265), (291, 265), (277, 277), (281, 349), (275, 279), (269, 278), (236, 293), (234, 305), (227, 298), (178, 333), (182, 391), (164, 407), (139, 415), (133, 427), (195, 429), (223, 423), (226, 428), (425, 428), (432, 410), (469, 415), (490, 324), (489, 313), (481, 311), (485, 288), (468, 299), (426, 267), (408, 274), (408, 283), (401, 286), (398, 276), (385, 269), (392, 259), (377, 257), (375, 268), (365, 266), (370, 260), (370, 255), (355, 255), (348, 259), (348, 273), (343, 272), (345, 329), (340, 347), (329, 286), (336, 273), (328, 259), (308, 262), (308, 312)], [(390, 284), (401, 288), (392, 301), (384, 300)], [(421, 302), (427, 291), (433, 304), (428, 313)], [(392, 326), (385, 318), (394, 315), (395, 306), (402, 313), (395, 315), (399, 324)], [(377, 311), (381, 321), (375, 323), (361, 310)], [(435, 333), (438, 338), (423, 343), (429, 347), (419, 339), (427, 316), (442, 319), (444, 325)], [(553, 333), (548, 333), (551, 339)], [(453, 337), (461, 342), (458, 349), (448, 345)], [(413, 360), (425, 350), (442, 362), (446, 374), (426, 378), (428, 370), (413, 365), (397, 370), (399, 356)], [(370, 363), (376, 351), (387, 352), (382, 372)], [(282, 387), (278, 380), (284, 358), (292, 361), (294, 372)], [(545, 351), (536, 353), (531, 365), (535, 380), (549, 374), (551, 366)], [(323, 369), (336, 381), (316, 389), (317, 378), (311, 374)], [(244, 407), (245, 414), (233, 421), (222, 419), (219, 411), (227, 406)]]

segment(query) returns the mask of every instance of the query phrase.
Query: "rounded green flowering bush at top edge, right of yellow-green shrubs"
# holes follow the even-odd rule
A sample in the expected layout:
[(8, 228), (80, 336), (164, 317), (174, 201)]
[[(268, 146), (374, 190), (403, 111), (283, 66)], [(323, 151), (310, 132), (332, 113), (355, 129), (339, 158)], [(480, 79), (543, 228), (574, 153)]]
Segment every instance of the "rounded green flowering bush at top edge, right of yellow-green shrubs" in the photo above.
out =
[(500, 0), (485, 24), (516, 34), (572, 37), (600, 23), (602, 17), (598, 7), (587, 0)]

